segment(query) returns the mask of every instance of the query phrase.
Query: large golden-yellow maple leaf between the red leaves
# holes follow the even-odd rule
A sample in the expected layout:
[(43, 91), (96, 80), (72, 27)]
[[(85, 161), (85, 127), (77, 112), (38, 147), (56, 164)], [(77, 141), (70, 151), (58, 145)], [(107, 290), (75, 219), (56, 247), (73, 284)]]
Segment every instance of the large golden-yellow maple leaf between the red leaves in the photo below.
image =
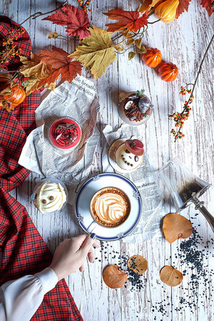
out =
[(116, 60), (116, 53), (110, 34), (96, 26), (89, 28), (91, 36), (83, 40), (83, 44), (69, 57), (83, 63), (83, 67), (89, 67), (95, 80), (101, 77), (110, 63)]

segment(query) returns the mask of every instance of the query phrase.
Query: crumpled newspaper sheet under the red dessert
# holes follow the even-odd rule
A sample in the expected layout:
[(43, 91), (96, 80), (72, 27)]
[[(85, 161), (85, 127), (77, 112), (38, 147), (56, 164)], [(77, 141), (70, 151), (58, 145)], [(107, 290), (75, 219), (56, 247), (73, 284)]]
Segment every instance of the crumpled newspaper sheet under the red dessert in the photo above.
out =
[[(100, 140), (96, 127), (98, 101), (91, 81), (76, 76), (58, 86), (44, 98), (36, 109), (39, 127), (28, 136), (19, 158), (19, 164), (46, 178), (58, 178), (68, 188), (68, 203), (75, 200), (75, 186), (87, 178)], [(69, 117), (81, 126), (81, 141), (73, 151), (54, 148), (49, 142), (51, 124), (61, 117)]]

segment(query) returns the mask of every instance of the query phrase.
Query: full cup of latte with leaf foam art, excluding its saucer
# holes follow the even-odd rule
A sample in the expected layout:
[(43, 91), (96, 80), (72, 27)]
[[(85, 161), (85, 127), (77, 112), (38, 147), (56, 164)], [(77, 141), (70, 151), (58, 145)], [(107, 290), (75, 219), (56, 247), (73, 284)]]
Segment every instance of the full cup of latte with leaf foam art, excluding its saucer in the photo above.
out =
[(115, 228), (127, 220), (131, 203), (123, 190), (106, 187), (93, 195), (90, 211), (96, 223), (105, 228)]

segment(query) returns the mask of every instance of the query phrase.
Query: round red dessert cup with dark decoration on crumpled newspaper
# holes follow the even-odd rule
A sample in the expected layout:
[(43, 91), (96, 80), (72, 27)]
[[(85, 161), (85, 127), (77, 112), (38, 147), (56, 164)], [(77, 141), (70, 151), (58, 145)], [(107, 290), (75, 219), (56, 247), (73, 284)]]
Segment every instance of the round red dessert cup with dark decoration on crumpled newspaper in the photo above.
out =
[(49, 141), (56, 148), (70, 150), (81, 141), (81, 127), (71, 118), (60, 118), (49, 128)]

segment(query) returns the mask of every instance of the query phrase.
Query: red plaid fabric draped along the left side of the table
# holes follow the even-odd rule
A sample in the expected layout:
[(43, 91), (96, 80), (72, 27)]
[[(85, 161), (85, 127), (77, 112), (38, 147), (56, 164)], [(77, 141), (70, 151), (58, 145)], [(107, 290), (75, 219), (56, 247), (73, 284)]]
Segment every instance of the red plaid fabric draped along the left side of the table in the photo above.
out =
[[(6, 37), (15, 25), (6, 16), (0, 16), (0, 38)], [(30, 55), (31, 41), (26, 32), (17, 40), (17, 44), (22, 49), (22, 55)], [(0, 65), (0, 68), (14, 70), (18, 64), (19, 60), (14, 58), (8, 66)], [(26, 209), (9, 194), (30, 173), (18, 165), (18, 160), (26, 135), (35, 128), (34, 110), (39, 100), (40, 91), (35, 91), (13, 113), (0, 110), (0, 285), (39, 272), (51, 263), (51, 253)], [(65, 280), (58, 282), (44, 296), (44, 301), (31, 320), (83, 320)]]

